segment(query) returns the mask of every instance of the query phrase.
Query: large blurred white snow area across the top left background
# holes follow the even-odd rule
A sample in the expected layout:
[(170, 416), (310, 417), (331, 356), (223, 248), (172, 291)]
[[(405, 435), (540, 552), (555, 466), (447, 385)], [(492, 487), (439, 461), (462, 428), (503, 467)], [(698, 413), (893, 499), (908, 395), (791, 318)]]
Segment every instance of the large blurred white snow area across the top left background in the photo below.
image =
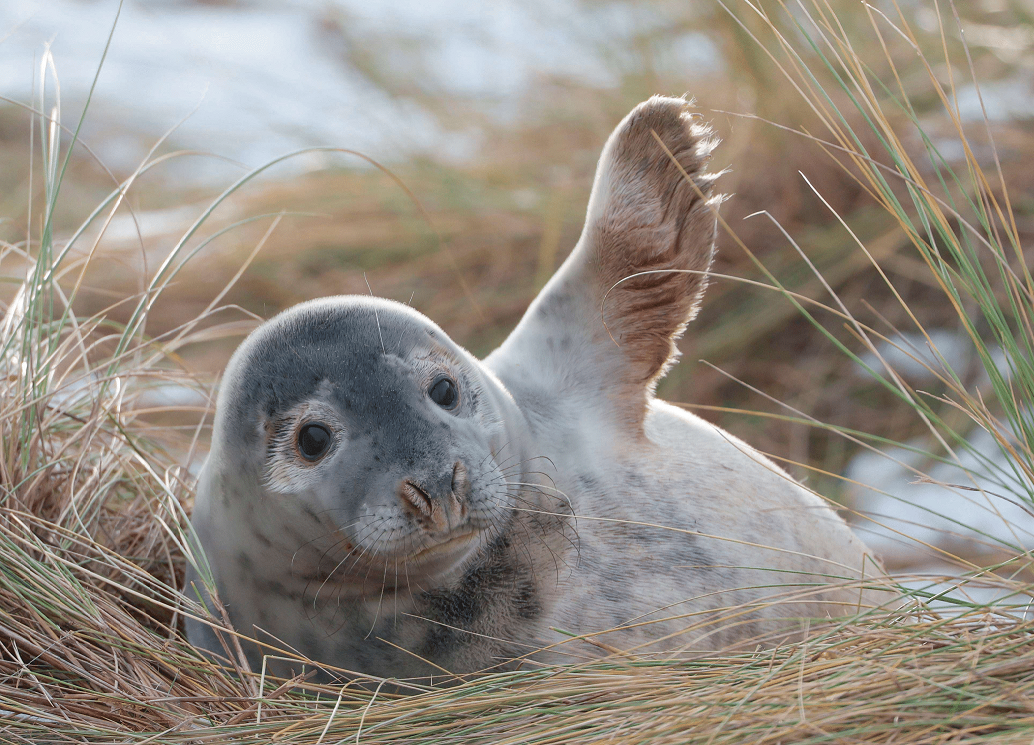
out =
[[(0, 94), (31, 100), (49, 42), (63, 120), (73, 123), (117, 8), (117, 0), (0, 3)], [(231, 7), (126, 0), (84, 138), (117, 169), (134, 167), (145, 154), (127, 133), (153, 138), (187, 115), (177, 143), (249, 166), (309, 146), (387, 160), (414, 153), (463, 158), (477, 147), (476, 132), (446, 130), (418, 97), (392, 95), (351, 67), (347, 53), (364, 45), (359, 51), (379, 55), (375, 61), (401, 75), (404, 87), (466, 96), (476, 108), (510, 116), (513, 102), (543, 77), (617, 85), (634, 41), (668, 25), (658, 10), (632, 2), (288, 0)], [(676, 35), (658, 53), (665, 65), (695, 72), (721, 64), (700, 34)], [(190, 159), (174, 173), (224, 178), (225, 168)]]

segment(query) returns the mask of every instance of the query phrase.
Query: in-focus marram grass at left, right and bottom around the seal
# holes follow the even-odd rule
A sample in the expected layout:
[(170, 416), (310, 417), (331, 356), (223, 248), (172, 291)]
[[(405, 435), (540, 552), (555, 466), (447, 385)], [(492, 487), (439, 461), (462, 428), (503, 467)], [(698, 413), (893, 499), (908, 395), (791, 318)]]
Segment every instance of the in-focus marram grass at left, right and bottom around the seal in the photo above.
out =
[[(742, 20), (752, 54), (771, 50), (787, 95), (802, 96), (824, 123), (825, 134), (808, 136), (893, 216), (959, 310), (987, 367), (991, 390), (971, 391), (950, 369), (939, 370), (950, 406), (997, 433), (1011, 467), (1030, 484), (1034, 290), (1004, 184), (985, 175), (985, 163), (969, 147), (971, 134), (951, 116), (953, 82), (942, 87), (904, 15), (887, 9), (834, 9), (821, 0), (788, 12), (774, 3), (771, 14), (746, 3), (730, 9)], [(922, 122), (909, 104), (913, 93), (904, 88), (895, 66), (901, 58), (892, 52), (902, 40), (920, 52), (919, 68), (931, 72), (926, 85), (941, 92), (966, 144), (961, 166), (949, 166), (921, 134)], [(946, 55), (948, 46), (945, 41)], [(870, 59), (859, 50), (876, 55)], [(50, 69), (44, 59), (42, 80), (51, 80)], [(681, 661), (614, 654), (568, 668), (528, 665), (406, 695), (391, 681), (321, 687), (224, 669), (200, 656), (178, 631), (182, 614), (199, 609), (175, 589), (185, 561), (190, 477), (149, 436), (153, 424), (141, 401), (157, 385), (192, 384), (177, 372), (176, 352), (201, 335), (219, 333), (210, 325), (216, 303), (204, 318), (160, 337), (146, 333), (155, 299), (200, 250), (187, 248), (187, 236), (142, 284), (142, 293), (129, 299), (135, 310), (128, 324), (104, 313), (73, 312), (92, 249), (77, 263), (69, 248), (86, 234), (77, 231), (63, 245), (54, 237), (67, 162), (55, 102), (41, 90), (39, 223), (24, 243), (0, 245), (0, 266), (20, 277), (0, 323), (0, 741), (1034, 740), (1034, 624), (1017, 599), (1029, 595), (1022, 541), (999, 546), (1005, 558), (994, 567), (969, 565), (974, 584), (1013, 594), (1011, 609), (956, 600), (960, 612), (942, 616), (922, 602), (931, 592), (912, 591), (912, 601), (896, 612), (848, 619), (816, 628), (802, 642), (752, 653)], [(852, 126), (868, 127), (868, 133)], [(906, 130), (920, 133), (918, 150)], [(866, 150), (874, 139), (879, 152)], [(922, 152), (933, 169), (916, 164)], [(993, 175), (997, 162), (996, 156)], [(113, 191), (90, 222), (110, 220), (151, 164)], [(871, 255), (860, 242), (858, 250)], [(782, 288), (776, 283), (773, 289)], [(831, 313), (871, 349), (871, 339), (888, 336), (857, 320), (835, 297), (823, 304), (785, 294), (848, 354), (855, 352), (843, 336), (813, 312)], [(989, 339), (1004, 349), (1010, 374), (995, 368)], [(929, 423), (935, 439), (966, 446), (943, 402), (923, 398), (892, 370), (883, 380), (902, 406)], [(859, 444), (880, 443), (864, 433), (830, 429)], [(187, 437), (188, 449), (196, 439)], [(950, 459), (946, 449), (934, 458)], [(1031, 503), (1029, 493), (1010, 498)], [(578, 644), (600, 653), (600, 642), (574, 641), (572, 648)]]

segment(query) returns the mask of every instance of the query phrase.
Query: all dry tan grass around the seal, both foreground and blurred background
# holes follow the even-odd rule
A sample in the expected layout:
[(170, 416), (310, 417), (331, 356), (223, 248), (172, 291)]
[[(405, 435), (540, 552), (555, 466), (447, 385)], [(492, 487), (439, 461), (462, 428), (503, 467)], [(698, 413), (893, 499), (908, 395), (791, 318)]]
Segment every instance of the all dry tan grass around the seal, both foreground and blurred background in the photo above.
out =
[[(942, 10), (943, 55), (966, 60), (950, 33), (951, 14)], [(975, 371), (940, 370), (938, 387), (916, 391), (892, 371), (875, 383), (861, 380), (852, 355), (917, 319), (969, 323), (977, 352), (989, 340), (1007, 346), (1011, 337), (1011, 364), (1031, 369), (1034, 290), (1024, 253), (1034, 231), (1030, 127), (995, 130), (996, 162), (979, 124), (934, 118), (938, 86), (949, 102), (956, 90), (945, 71), (953, 68), (924, 66), (941, 59), (936, 28), (916, 41), (927, 50), (917, 59), (904, 19), (891, 25), (864, 7), (820, 0), (792, 13), (779, 3), (767, 17), (747, 5), (732, 11), (738, 21), (713, 25), (731, 60), (729, 79), (698, 95), (711, 108), (741, 110), (735, 100), (753, 86), (768, 92), (755, 95), (759, 116), (808, 133), (713, 114), (725, 127), (721, 157), (735, 166), (723, 183), (735, 198), (723, 211), (730, 229), (716, 269), (740, 279), (712, 286), (685, 351), (725, 373), (685, 366), (664, 393), (816, 468), (811, 483), (822, 491), (835, 484), (831, 474), (850, 453), (880, 437), (929, 432), (959, 445), (952, 437), (962, 439), (971, 423), (1018, 433), (1002, 434), (1000, 443), (1029, 476), (1023, 410), (1034, 397), (1034, 375), (979, 389)], [(815, 48), (801, 40), (795, 21)], [(828, 68), (820, 51), (833, 61)], [(971, 52), (976, 72), (1000, 71), (993, 56)], [(843, 82), (830, 85), (834, 72)], [(819, 77), (825, 88), (815, 86)], [(916, 603), (753, 654), (674, 662), (617, 655), (406, 696), (383, 681), (322, 688), (221, 669), (180, 635), (179, 616), (197, 611), (175, 589), (191, 496), (183, 465), (203, 449), (208, 411), (195, 373), (218, 370), (254, 314), (317, 294), (364, 292), (366, 279), (378, 294), (406, 301), (414, 293), (415, 306), (458, 340), (488, 350), (573, 245), (613, 122), (645, 94), (681, 87), (643, 74), (609, 97), (565, 90), (554, 119), (490, 132), (491, 157), (476, 164), (404, 164), (396, 175), (429, 218), (389, 176), (341, 169), (236, 188), (217, 209), (196, 201), (196, 216), (207, 217), (197, 230), (121, 243), (93, 239), (147, 176), (126, 175), (122, 187), (102, 195), (110, 177), (66, 160), (44, 121), (41, 139), (55, 144), (35, 156), (34, 169), (0, 172), (11, 216), (0, 223), (0, 263), (14, 278), (0, 325), (0, 740), (1031, 742), (1034, 627), (1022, 609), (965, 600), (961, 615), (942, 617)], [(922, 108), (896, 105), (901, 100)], [(805, 111), (804, 101), (814, 107)], [(0, 123), (0, 135), (19, 136), (8, 121), (19, 122), (18, 115)], [(966, 178), (941, 181), (945, 170), (924, 155), (917, 132), (973, 143), (953, 163)], [(2, 152), (3, 163), (17, 163)], [(64, 199), (69, 187), (72, 205), (102, 207), (64, 254), (87, 216), (57, 209), (59, 191)], [(143, 206), (162, 206), (149, 198)], [(760, 209), (774, 222), (742, 219)], [(32, 219), (20, 222), (26, 214)], [(267, 217), (247, 222), (252, 215)], [(774, 223), (800, 253), (787, 250)], [(968, 231), (978, 237), (973, 250)], [(204, 263), (186, 260), (210, 239), (220, 250)], [(1006, 309), (1004, 336), (996, 334), (994, 307)], [(792, 410), (762, 401), (764, 417), (734, 418), (727, 409), (758, 402), (737, 378)], [(189, 404), (154, 403), (156, 392), (183, 389), (196, 392)], [(832, 424), (816, 427), (812, 417)], [(1028, 503), (1031, 495), (1011, 496)], [(997, 549), (997, 566), (961, 565), (974, 585), (1027, 597), (1028, 554), (1021, 546)]]

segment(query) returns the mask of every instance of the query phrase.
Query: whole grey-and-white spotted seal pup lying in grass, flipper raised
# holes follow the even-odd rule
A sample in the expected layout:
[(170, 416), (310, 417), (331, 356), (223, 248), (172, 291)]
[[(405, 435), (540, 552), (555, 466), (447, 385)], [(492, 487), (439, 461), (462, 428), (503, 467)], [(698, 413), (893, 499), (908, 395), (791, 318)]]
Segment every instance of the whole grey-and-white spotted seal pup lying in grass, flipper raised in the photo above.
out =
[(535, 658), (753, 646), (858, 610), (871, 560), (843, 520), (653, 396), (711, 262), (713, 144), (682, 99), (632, 111), (574, 251), (484, 361), (373, 298), (254, 331), (219, 391), (187, 593), (205, 575), (246, 637), (383, 678), (513, 666), (572, 634), (596, 646)]

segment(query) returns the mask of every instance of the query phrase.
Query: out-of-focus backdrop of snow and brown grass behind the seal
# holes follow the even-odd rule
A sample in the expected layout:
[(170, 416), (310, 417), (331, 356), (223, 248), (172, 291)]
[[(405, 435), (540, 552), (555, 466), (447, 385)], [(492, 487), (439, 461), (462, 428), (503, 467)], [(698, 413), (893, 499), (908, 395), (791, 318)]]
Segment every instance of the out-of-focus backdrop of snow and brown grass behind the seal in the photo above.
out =
[[(900, 12), (922, 34), (918, 42), (942, 61), (934, 74), (953, 84), (961, 126), (978, 133), (978, 156), (989, 167), (989, 126), (993, 132), (1020, 235), (1034, 232), (1034, 3), (826, 6), (847, 26), (871, 26), (872, 8)], [(780, 23), (792, 35), (793, 8), (782, 10)], [(950, 27), (953, 11), (966, 28), (979, 90), (965, 67), (944, 63), (942, 48), (966, 59)], [(939, 19), (949, 23), (946, 30)], [(235, 189), (207, 217), (189, 240), (204, 247), (162, 293), (148, 333), (159, 336), (205, 313), (232, 283), (220, 299), (232, 307), (207, 317), (201, 325), (211, 333), (175, 356), (211, 383), (258, 318), (309, 298), (372, 292), (410, 303), (484, 355), (577, 240), (610, 130), (653, 93), (689, 94), (723, 141), (713, 168), (726, 169), (719, 183), (730, 198), (722, 214), (736, 240), (723, 231), (716, 274), (766, 281), (753, 253), (786, 288), (828, 303), (825, 284), (789, 236), (856, 317), (904, 340), (900, 346), (912, 353), (885, 351), (896, 354), (909, 384), (938, 396), (940, 382), (914, 358), (940, 354), (979, 387), (979, 360), (967, 351), (954, 310), (900, 225), (850, 167), (791, 131), (828, 136), (752, 39), (770, 36), (766, 29), (746, 0), (127, 0), (121, 10), (114, 0), (4, 0), (0, 240), (31, 246), (39, 229), (28, 216), (42, 198), (34, 169), (43, 132), (28, 110), (51, 111), (59, 85), (61, 121), (74, 129), (95, 82), (80, 132), (84, 147), (73, 152), (55, 218), (59, 243), (142, 163), (175, 157), (136, 176), (114, 216), (95, 221), (75, 243), (73, 256), (90, 257), (80, 312), (124, 322), (132, 307), (125, 299), (139, 297), (143, 278), (215, 195), (249, 169), (302, 151)], [(878, 37), (870, 37), (879, 49)], [(950, 163), (963, 155), (954, 128), (922, 61), (900, 46), (892, 52), (895, 85), (911, 102), (900, 114), (940, 136)], [(41, 67), (47, 49), (53, 68)], [(846, 96), (837, 103), (848, 111)], [(866, 146), (876, 144), (871, 136)], [(332, 149), (357, 151), (384, 168)], [(17, 260), (8, 257), (0, 274), (8, 278), (0, 300), (8, 302), (22, 279)], [(914, 334), (913, 316), (931, 332), (936, 352)], [(845, 324), (833, 319), (827, 328), (861, 352)], [(929, 509), (916, 516), (909, 505), (943, 510), (953, 498), (935, 485), (910, 485), (914, 477), (900, 464), (803, 421), (929, 448), (915, 410), (901, 406), (780, 293), (716, 278), (681, 349), (683, 361), (660, 395), (771, 454), (820, 493), (894, 517), (912, 532), (926, 530), (932, 519)], [(178, 404), (186, 413), (156, 416), (155, 426), (182, 428), (182, 442), (190, 442), (206, 405), (200, 391), (156, 389), (154, 405)], [(942, 408), (965, 429), (965, 413)], [(1000, 529), (972, 510), (957, 511), (968, 508), (951, 507), (978, 532)], [(1009, 520), (1030, 516), (1021, 509)], [(894, 530), (860, 529), (892, 567), (929, 564)], [(957, 532), (943, 546), (989, 558), (986, 547)], [(943, 534), (923, 539), (940, 546)]]

